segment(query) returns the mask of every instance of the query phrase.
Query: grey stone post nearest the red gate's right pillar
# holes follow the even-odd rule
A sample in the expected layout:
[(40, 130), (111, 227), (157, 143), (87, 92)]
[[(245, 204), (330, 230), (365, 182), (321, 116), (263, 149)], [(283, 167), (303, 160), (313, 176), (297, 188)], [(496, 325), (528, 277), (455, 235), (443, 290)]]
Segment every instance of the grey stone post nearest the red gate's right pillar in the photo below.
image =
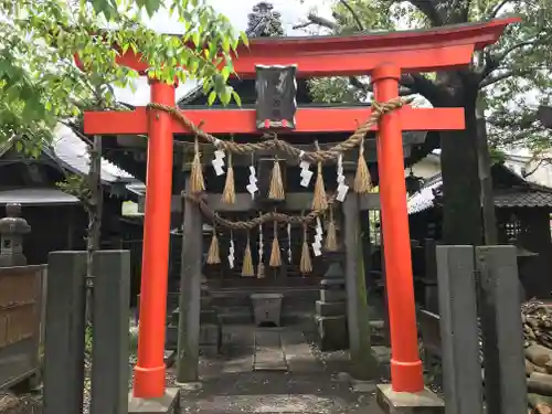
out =
[(439, 323), (446, 414), (481, 414), (473, 246), (437, 246)]

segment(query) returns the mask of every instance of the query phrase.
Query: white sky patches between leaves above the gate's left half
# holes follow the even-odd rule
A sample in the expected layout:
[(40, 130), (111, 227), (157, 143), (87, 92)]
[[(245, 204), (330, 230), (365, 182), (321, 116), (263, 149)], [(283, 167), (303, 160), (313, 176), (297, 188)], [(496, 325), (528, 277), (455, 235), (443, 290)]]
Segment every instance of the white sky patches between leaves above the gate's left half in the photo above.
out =
[[(247, 14), (259, 0), (208, 0), (220, 13), (226, 15), (236, 30), (247, 28)], [(305, 31), (294, 30), (293, 26), (305, 20), (310, 10), (315, 9), (320, 17), (331, 19), (330, 1), (328, 0), (272, 0), (275, 11), (282, 13), (282, 24), (287, 35), (305, 35)], [(169, 17), (166, 10), (159, 11), (151, 19), (145, 21), (150, 28), (160, 33), (178, 34), (182, 32), (181, 24), (176, 17)], [(136, 91), (130, 87), (115, 91), (117, 100), (127, 104), (144, 106), (149, 103), (149, 87), (147, 79), (141, 77), (136, 84)], [(194, 83), (181, 85), (177, 89), (177, 100), (183, 96)]]

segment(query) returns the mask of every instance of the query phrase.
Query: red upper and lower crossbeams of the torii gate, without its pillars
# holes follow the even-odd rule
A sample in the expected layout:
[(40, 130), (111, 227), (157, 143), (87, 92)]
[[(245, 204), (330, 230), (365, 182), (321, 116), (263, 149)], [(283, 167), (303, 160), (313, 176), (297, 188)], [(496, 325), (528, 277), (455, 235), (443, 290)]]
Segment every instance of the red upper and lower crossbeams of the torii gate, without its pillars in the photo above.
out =
[[(449, 25), (429, 30), (397, 31), (352, 36), (263, 38), (253, 39), (250, 49), (238, 50), (233, 64), (243, 78), (254, 78), (255, 66), (297, 64), (301, 77), (331, 75), (367, 75), (383, 63), (404, 72), (443, 71), (466, 66), (475, 50), (492, 44), (506, 26), (518, 18), (496, 19), (481, 23)], [(139, 55), (127, 51), (119, 64), (141, 73), (148, 68)], [(78, 63), (78, 62), (77, 62)], [(255, 109), (185, 109), (185, 116), (211, 134), (259, 134)], [(295, 132), (343, 132), (357, 128), (367, 119), (365, 107), (297, 109)], [(399, 110), (402, 130), (457, 130), (465, 128), (464, 108), (417, 108)], [(144, 135), (148, 134), (145, 107), (131, 112), (87, 112), (85, 134)], [(173, 120), (174, 134), (189, 134)], [(378, 126), (373, 127), (374, 130)]]

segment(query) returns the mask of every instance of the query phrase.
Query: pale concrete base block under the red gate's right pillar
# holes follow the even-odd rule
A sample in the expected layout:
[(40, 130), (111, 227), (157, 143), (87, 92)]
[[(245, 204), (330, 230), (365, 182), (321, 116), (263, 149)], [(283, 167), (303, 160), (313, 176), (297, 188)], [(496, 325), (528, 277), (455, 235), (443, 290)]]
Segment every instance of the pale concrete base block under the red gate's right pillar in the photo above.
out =
[(428, 389), (418, 393), (394, 392), (391, 384), (379, 384), (378, 405), (386, 414), (444, 414), (445, 402)]

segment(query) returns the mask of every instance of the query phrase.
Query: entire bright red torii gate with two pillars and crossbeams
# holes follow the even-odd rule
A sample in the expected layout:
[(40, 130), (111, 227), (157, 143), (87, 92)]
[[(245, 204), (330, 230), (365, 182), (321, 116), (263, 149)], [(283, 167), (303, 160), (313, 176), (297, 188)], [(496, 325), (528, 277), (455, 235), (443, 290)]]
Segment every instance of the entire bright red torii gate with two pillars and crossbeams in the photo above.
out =
[[(241, 47), (233, 60), (242, 78), (254, 78), (256, 65), (297, 65), (297, 76), (371, 75), (375, 99), (399, 95), (401, 73), (436, 72), (467, 66), (474, 51), (498, 41), (517, 18), (351, 36), (262, 38)], [(147, 62), (127, 51), (119, 64), (146, 74)], [(77, 61), (78, 63), (78, 61)], [(151, 102), (174, 105), (174, 87), (150, 82)], [(185, 116), (211, 134), (259, 134), (255, 109), (184, 110)], [(295, 132), (353, 131), (367, 108), (298, 108)], [(379, 130), (378, 163), (385, 240), (388, 304), (391, 330), (393, 390), (418, 392), (424, 388), (414, 306), (411, 245), (404, 182), (402, 132), (455, 130), (465, 127), (463, 108), (403, 107), (386, 114)], [(134, 394), (159, 397), (164, 392), (164, 322), (173, 134), (189, 132), (164, 112), (89, 112), (84, 114), (87, 135), (144, 135), (148, 140), (146, 217), (141, 275), (140, 330)], [(288, 131), (286, 131), (288, 134)]]

